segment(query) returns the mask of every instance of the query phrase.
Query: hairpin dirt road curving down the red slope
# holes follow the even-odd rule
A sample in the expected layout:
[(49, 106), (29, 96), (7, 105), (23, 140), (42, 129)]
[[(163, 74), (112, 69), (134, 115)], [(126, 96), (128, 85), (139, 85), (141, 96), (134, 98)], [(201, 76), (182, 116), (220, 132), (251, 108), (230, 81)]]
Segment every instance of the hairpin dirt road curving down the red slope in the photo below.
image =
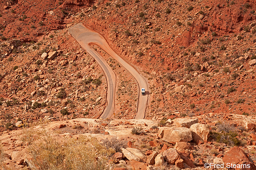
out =
[[(114, 106), (115, 101), (115, 74), (113, 73), (113, 70), (110, 68), (110, 66), (106, 63), (106, 61), (97, 53), (94, 51), (94, 49), (90, 48), (90, 44), (98, 45), (102, 50), (104, 50), (106, 53), (108, 53), (111, 57), (113, 57), (119, 64), (121, 64), (123, 67), (125, 67), (132, 76), (136, 79), (138, 85), (139, 85), (139, 96), (138, 96), (138, 107), (137, 107), (137, 114), (136, 119), (144, 119), (145, 117), (145, 111), (147, 106), (147, 101), (149, 98), (149, 92), (148, 92), (148, 86), (146, 79), (139, 73), (139, 71), (130, 64), (127, 60), (125, 60), (122, 56), (117, 54), (108, 44), (106, 39), (99, 33), (85, 27), (82, 23), (78, 23), (69, 29), (69, 33), (76, 39), (76, 41), (84, 48), (86, 51), (92, 55), (95, 60), (98, 62), (98, 64), (103, 69), (106, 67), (107, 69), (103, 69), (107, 82), (108, 82), (108, 90), (107, 90), (107, 101), (108, 104), (101, 115), (101, 118), (110, 118), (113, 114), (114, 108), (112, 110), (109, 108), (110, 104), (111, 107)], [(96, 57), (97, 56), (97, 57)], [(111, 71), (110, 71), (111, 69)], [(112, 81), (110, 83), (109, 81)], [(112, 88), (112, 89), (110, 89)], [(145, 88), (145, 95), (141, 95), (141, 88)], [(107, 109), (108, 107), (108, 109)]]

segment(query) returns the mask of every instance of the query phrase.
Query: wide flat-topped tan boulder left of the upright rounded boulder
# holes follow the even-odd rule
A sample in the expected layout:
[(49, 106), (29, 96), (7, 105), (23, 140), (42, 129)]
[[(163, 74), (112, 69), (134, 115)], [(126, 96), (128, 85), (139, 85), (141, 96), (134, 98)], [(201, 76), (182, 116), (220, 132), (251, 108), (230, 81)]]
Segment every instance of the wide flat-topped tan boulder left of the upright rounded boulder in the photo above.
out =
[(162, 133), (162, 140), (167, 141), (169, 143), (189, 142), (192, 140), (191, 131), (188, 128), (173, 126), (164, 129)]

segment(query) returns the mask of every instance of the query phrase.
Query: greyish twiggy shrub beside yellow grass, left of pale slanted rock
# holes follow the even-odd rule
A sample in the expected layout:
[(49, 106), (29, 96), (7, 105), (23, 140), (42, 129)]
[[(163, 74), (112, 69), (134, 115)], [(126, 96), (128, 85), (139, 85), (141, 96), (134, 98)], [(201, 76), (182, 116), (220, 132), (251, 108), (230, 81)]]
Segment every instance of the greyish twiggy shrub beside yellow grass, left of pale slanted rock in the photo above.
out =
[(116, 137), (112, 137), (110, 139), (106, 138), (101, 142), (107, 149), (112, 148), (115, 152), (122, 152), (121, 148), (127, 147), (127, 142), (125, 140), (119, 140)]

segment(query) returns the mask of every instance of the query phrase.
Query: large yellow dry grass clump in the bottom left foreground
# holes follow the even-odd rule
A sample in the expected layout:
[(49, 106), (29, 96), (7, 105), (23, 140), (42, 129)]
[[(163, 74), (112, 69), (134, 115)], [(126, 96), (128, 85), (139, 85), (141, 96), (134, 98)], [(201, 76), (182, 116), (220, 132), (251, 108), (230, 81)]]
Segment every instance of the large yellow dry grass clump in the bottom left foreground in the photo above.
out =
[(31, 170), (104, 170), (107, 157), (114, 152), (94, 138), (81, 136), (60, 142), (45, 130), (26, 130), (22, 139), (32, 156)]

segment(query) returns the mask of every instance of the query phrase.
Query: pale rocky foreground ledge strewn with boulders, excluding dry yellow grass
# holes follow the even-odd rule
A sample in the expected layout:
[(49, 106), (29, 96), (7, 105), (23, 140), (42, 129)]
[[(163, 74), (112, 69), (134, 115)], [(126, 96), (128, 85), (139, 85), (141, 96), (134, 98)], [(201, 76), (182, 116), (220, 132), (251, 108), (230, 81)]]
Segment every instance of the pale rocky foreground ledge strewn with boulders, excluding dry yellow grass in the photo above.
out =
[(100, 145), (111, 149), (107, 169), (204, 169), (205, 163), (227, 166), (232, 163), (250, 165), (248, 169), (253, 170), (255, 123), (251, 116), (214, 113), (160, 122), (85, 118), (44, 121), (30, 129), (4, 132), (0, 136), (4, 153), (1, 165), (10, 169), (33, 167), (35, 157), (31, 148), (39, 145), (38, 134), (47, 134), (60, 145), (71, 139), (97, 138), (94, 140)]

